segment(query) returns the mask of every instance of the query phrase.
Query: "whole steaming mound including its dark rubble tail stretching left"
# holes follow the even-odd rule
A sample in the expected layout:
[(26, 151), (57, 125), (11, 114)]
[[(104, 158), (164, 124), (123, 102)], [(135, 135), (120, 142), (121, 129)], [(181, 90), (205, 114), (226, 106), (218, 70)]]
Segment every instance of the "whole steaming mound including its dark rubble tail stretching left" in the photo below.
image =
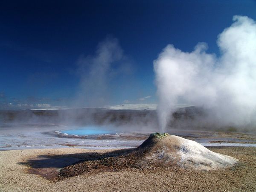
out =
[[(115, 155), (115, 154), (113, 154)], [(60, 170), (59, 179), (87, 172), (111, 172), (123, 169), (152, 169), (180, 167), (184, 169), (223, 169), (233, 166), (237, 159), (210, 151), (203, 145), (169, 134), (151, 134), (143, 144), (126, 154), (83, 161)]]

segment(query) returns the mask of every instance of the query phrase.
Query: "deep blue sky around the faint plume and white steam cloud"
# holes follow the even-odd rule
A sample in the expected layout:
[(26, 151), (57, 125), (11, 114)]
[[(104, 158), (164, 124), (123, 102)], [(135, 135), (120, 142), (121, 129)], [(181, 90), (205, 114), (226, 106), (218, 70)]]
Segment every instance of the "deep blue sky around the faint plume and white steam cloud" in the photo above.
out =
[[(153, 61), (161, 50), (190, 52), (206, 42), (218, 55), (217, 36), (233, 15), (256, 20), (256, 1), (1, 1), (0, 108), (156, 103)], [(81, 75), (79, 61), (95, 58), (109, 37), (122, 59), (105, 74), (104, 102), (91, 103), (81, 81), (92, 66), (85, 62)]]

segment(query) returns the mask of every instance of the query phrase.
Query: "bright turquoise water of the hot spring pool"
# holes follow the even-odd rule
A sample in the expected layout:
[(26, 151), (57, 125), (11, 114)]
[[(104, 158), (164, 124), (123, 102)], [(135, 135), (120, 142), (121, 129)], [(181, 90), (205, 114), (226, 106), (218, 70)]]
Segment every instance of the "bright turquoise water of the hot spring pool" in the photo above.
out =
[(105, 129), (102, 129), (102, 127), (96, 127), (96, 126), (88, 126), (88, 127), (83, 127), (83, 128), (79, 128), (79, 129), (64, 130), (61, 132), (69, 134), (69, 135), (78, 135), (78, 136), (115, 134), (116, 133), (116, 131), (105, 130)]

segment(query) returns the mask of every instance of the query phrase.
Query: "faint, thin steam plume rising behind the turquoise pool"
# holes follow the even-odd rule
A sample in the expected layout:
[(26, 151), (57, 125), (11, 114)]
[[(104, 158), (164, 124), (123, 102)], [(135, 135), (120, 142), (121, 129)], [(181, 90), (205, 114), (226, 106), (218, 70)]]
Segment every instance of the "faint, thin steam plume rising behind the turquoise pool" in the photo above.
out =
[(118, 73), (128, 73), (130, 67), (118, 39), (111, 37), (99, 43), (95, 55), (81, 56), (78, 64), (81, 80), (76, 105), (79, 107), (108, 104), (111, 79)]

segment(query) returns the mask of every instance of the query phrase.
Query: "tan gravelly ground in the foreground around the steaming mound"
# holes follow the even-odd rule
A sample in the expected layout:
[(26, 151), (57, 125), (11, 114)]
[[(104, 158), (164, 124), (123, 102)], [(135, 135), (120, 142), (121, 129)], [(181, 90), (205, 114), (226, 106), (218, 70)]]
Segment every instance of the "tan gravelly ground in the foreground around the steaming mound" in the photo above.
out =
[(90, 154), (93, 158), (95, 154), (97, 156), (111, 150), (63, 148), (0, 151), (0, 191), (256, 191), (256, 148), (209, 149), (235, 157), (240, 163), (231, 169), (216, 171), (175, 167), (129, 169), (120, 172), (87, 173), (53, 182), (40, 175), (29, 174), (30, 167), (27, 162), (47, 156), (82, 158)]

